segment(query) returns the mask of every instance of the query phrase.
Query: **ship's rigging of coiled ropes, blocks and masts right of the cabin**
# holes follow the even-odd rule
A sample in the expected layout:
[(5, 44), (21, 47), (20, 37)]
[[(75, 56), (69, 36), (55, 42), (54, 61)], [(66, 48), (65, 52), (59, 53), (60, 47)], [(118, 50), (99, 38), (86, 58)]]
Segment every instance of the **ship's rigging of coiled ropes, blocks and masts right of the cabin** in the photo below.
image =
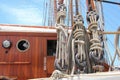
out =
[[(71, 8), (71, 4), (75, 4), (75, 8)], [(54, 1), (55, 2), (55, 1)], [(67, 8), (64, 0), (58, 1), (58, 10), (56, 15), (57, 29), (57, 47), (55, 68), (64, 74), (74, 75), (83, 73), (96, 73), (113, 71), (113, 64), (116, 55), (119, 56), (119, 33), (104, 32), (104, 17), (102, 12), (102, 3), (117, 4), (117, 2), (105, 0), (86, 0), (87, 14), (86, 20), (88, 27), (84, 26), (82, 12), (79, 10), (79, 0), (70, 0), (71, 26), (72, 31), (69, 33), (65, 25)], [(55, 2), (56, 3), (56, 2)], [(75, 14), (73, 13), (75, 10)], [(105, 34), (116, 34), (115, 37), (115, 54), (111, 62), (105, 58), (109, 55), (105, 52), (106, 36)], [(54, 79), (59, 79), (61, 72), (53, 72)], [(56, 74), (56, 75), (55, 75)], [(57, 75), (58, 74), (58, 75)]]

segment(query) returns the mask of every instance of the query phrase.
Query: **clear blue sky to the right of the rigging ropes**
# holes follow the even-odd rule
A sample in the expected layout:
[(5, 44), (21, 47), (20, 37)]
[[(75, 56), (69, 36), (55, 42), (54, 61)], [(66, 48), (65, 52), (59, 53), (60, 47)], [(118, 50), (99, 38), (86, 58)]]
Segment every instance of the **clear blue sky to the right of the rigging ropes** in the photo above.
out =
[[(116, 1), (120, 3), (120, 0), (111, 0), (111, 1)], [(103, 12), (104, 12), (105, 31), (116, 31), (120, 26), (120, 5), (103, 3), (103, 8), (104, 8)], [(113, 34), (106, 35), (106, 37), (107, 37), (109, 51), (113, 57), (113, 54), (115, 52), (115, 46), (114, 46), (115, 35)], [(120, 48), (120, 41), (119, 41), (119, 48)], [(120, 66), (120, 58), (118, 56), (114, 64), (116, 66)]]

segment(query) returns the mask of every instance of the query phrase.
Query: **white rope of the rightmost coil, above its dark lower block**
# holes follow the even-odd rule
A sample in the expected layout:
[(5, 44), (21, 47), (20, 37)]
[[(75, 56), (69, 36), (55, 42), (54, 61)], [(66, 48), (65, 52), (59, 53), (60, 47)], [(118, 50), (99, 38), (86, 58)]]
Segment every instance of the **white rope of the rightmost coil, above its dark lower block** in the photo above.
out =
[[(94, 50), (94, 49), (98, 49), (102, 51), (102, 47), (100, 44), (100, 40), (98, 38), (98, 31), (97, 31), (97, 14), (95, 11), (91, 11), (88, 13), (88, 18), (90, 19), (90, 24), (88, 29), (91, 31), (92, 33), (92, 39), (90, 40), (90, 42), (92, 43), (90, 50)], [(94, 25), (91, 25), (94, 24)]]

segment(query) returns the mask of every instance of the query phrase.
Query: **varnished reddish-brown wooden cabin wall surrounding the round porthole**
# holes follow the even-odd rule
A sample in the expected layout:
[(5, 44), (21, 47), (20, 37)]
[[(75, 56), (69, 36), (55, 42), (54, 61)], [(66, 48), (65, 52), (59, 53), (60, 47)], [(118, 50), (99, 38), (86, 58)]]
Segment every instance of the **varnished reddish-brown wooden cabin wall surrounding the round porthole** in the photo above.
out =
[[(20, 39), (30, 42), (28, 51), (17, 50), (16, 43)], [(53, 65), (49, 65), (52, 70), (44, 70), (44, 57), (47, 58), (47, 52), (44, 50), (48, 39), (56, 39), (56, 33), (0, 32), (0, 76), (15, 76), (17, 80), (27, 80), (46, 77), (52, 73), (50, 71), (53, 71)], [(10, 49), (2, 47), (4, 40), (12, 42)], [(48, 61), (51, 63), (50, 59)], [(54, 58), (52, 63), (53, 61)]]

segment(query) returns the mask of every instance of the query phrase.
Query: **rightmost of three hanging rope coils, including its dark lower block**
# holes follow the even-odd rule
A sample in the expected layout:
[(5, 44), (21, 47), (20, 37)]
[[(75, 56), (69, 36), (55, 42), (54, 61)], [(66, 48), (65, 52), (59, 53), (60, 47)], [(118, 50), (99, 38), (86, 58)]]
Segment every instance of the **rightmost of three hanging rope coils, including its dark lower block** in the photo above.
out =
[(103, 52), (102, 52), (102, 44), (99, 38), (98, 34), (98, 22), (99, 16), (97, 15), (97, 12), (95, 10), (90, 11), (87, 14), (87, 21), (89, 23), (88, 30), (91, 32), (90, 35), (90, 52), (89, 57), (92, 61), (92, 65), (97, 65), (99, 63), (102, 63), (103, 59)]

